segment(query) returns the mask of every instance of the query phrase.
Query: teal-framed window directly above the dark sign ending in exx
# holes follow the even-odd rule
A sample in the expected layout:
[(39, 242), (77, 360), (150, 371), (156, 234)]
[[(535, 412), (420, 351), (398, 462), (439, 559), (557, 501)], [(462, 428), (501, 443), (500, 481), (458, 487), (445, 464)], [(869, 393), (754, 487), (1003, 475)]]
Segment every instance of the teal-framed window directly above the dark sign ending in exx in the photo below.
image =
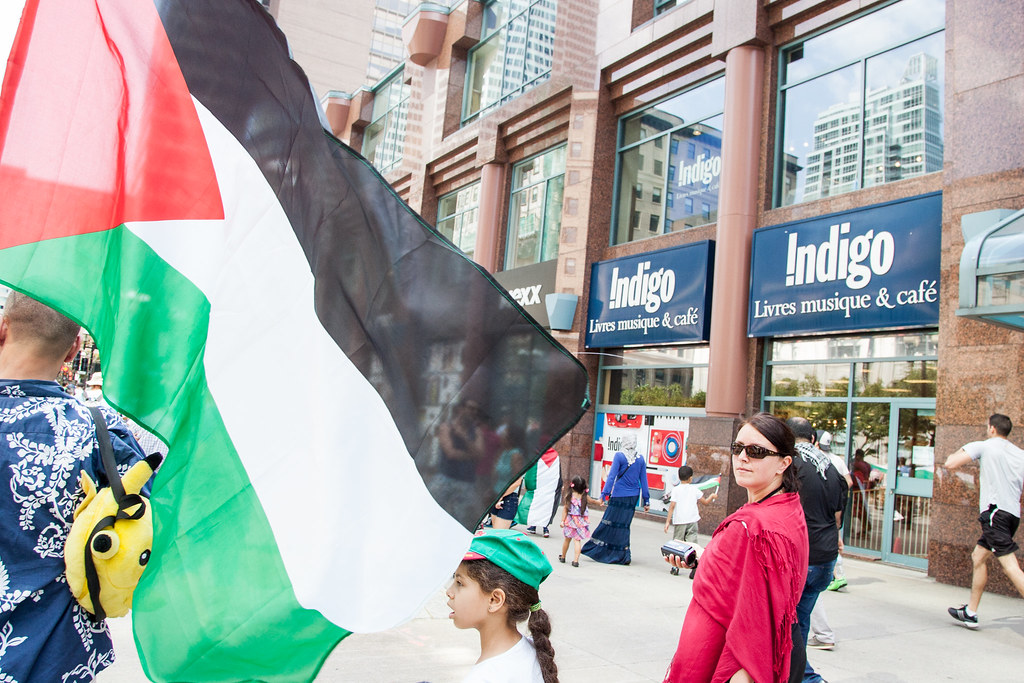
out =
[(506, 269), (558, 257), (564, 181), (565, 145), (513, 167)]

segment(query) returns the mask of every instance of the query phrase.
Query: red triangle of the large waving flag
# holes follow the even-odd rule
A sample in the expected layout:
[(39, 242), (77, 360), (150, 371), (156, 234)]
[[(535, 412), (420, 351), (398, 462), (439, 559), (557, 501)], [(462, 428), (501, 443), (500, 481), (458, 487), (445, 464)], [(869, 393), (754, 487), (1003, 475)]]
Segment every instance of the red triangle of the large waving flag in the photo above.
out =
[(153, 2), (28, 0), (0, 93), (0, 248), (223, 218)]

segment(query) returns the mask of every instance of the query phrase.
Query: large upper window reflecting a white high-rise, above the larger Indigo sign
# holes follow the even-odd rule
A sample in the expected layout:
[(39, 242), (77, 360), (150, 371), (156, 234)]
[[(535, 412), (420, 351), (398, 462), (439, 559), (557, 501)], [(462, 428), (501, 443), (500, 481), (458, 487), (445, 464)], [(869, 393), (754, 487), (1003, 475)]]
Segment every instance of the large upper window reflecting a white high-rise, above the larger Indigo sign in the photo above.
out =
[(901, 0), (782, 51), (776, 206), (942, 169), (944, 27)]

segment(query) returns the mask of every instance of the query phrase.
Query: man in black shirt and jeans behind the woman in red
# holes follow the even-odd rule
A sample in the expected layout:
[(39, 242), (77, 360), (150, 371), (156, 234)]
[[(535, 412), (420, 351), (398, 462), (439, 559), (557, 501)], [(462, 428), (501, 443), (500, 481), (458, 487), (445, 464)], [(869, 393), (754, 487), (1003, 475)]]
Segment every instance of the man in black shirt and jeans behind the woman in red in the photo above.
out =
[[(805, 418), (790, 418), (786, 424), (797, 436), (794, 461), (800, 477), (800, 503), (807, 519), (808, 554), (807, 583), (797, 604), (797, 621), (807, 642), (811, 626), (811, 610), (821, 591), (833, 580), (833, 567), (839, 556), (839, 527), (843, 523), (843, 510), (849, 486), (846, 479), (831, 464), (828, 456), (814, 446), (814, 428)], [(804, 669), (804, 683), (818, 683), (822, 679), (808, 661)]]

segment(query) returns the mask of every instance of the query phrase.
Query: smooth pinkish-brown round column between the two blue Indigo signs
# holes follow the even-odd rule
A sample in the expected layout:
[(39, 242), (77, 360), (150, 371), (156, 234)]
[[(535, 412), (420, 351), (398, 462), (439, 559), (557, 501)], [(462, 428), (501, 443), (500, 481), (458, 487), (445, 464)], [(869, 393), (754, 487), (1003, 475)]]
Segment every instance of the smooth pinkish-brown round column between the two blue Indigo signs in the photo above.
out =
[(740, 416), (746, 404), (746, 310), (751, 233), (757, 226), (764, 50), (739, 45), (725, 57), (722, 185), (711, 307), (710, 417)]

